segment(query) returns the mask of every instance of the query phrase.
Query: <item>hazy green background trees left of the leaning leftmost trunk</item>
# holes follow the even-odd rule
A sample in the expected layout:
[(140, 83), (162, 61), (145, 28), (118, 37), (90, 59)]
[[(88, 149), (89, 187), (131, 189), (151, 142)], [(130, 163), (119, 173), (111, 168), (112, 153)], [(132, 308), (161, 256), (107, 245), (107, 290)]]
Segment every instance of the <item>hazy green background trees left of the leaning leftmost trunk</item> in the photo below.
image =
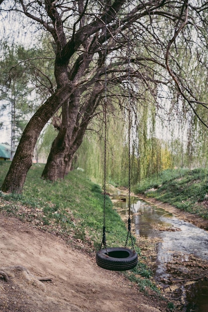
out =
[[(51, 95), (55, 85), (55, 78), (52, 78), (54, 53), (46, 42), (42, 42), (42, 48), (38, 49), (10, 46), (6, 41), (1, 42), (0, 52), (0, 100), (3, 103), (0, 110), (10, 112), (13, 127), (11, 139), (15, 149), (31, 114)], [(48, 155), (50, 146), (46, 144), (40, 138), (38, 147)]]

